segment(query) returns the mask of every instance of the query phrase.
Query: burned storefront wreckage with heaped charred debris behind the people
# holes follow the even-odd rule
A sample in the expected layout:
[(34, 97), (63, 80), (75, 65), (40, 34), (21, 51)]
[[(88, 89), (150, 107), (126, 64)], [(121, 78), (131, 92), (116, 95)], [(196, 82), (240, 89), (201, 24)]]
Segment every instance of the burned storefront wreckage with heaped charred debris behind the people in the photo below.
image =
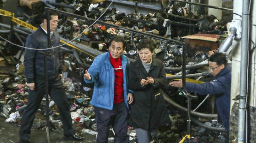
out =
[[(112, 4), (111, 0), (100, 5), (98, 2), (91, 4), (81, 0), (77, 1), (76, 5), (46, 1), (47, 5), (58, 10), (44, 7), (41, 2), (31, 7), (44, 7), (46, 11), (59, 14), (57, 31), (63, 43), (60, 47), (65, 64), (62, 81), (70, 102), (72, 119), (77, 131), (81, 133), (97, 134), (94, 109), (90, 105), (93, 86), (83, 82), (83, 74), (92, 64), (94, 57), (108, 51), (108, 40), (113, 35), (125, 38), (127, 46), (124, 54), (129, 57), (130, 62), (138, 58), (138, 42), (145, 37), (151, 38), (157, 47), (155, 56), (163, 60), (165, 65), (168, 81), (182, 78), (183, 82), (189, 80), (203, 83), (210, 79), (207, 67), (208, 53), (218, 50), (225, 40), (227, 22), (219, 21), (213, 15), (192, 13), (191, 5), (233, 11), (207, 4), (170, 0), (162, 2), (161, 9), (149, 7), (157, 12), (143, 15), (138, 12), (143, 5), (138, 2), (115, 0), (113, 3), (132, 5), (135, 11), (126, 15), (115, 7), (107, 9), (108, 5)], [(40, 24), (39, 16), (40, 11), (34, 10), (34, 13), (24, 14), (23, 20), (37, 27)], [(8, 29), (0, 31), (1, 37), (13, 42), (11, 44), (1, 39), (0, 56), (7, 65), (16, 65), (16, 69), (12, 71), (0, 72), (1, 115), (7, 118), (6, 122), (19, 123), (28, 95), (20, 59), (26, 37), (33, 30), (14, 26), (14, 22), (0, 26)], [(196, 93), (190, 95), (182, 89), (168, 85), (163, 87), (163, 95), (168, 103), (172, 124), (159, 130), (154, 138), (155, 142), (179, 142), (186, 134), (191, 135), (190, 141), (194, 142), (225, 142), (226, 131), (217, 122), (214, 97), (197, 96)], [(43, 101), (38, 110), (41, 115), (38, 116), (45, 115), (45, 104)], [(199, 104), (201, 106), (198, 108)], [(53, 101), (50, 101), (49, 107), (50, 130), (58, 130), (61, 126), (58, 109)], [(37, 129), (44, 128), (46, 122), (35, 120), (33, 126)], [(110, 134), (113, 137), (112, 131)], [(129, 135), (130, 142), (136, 142), (134, 129), (129, 128)], [(109, 138), (109, 141), (112, 141), (112, 138)]]

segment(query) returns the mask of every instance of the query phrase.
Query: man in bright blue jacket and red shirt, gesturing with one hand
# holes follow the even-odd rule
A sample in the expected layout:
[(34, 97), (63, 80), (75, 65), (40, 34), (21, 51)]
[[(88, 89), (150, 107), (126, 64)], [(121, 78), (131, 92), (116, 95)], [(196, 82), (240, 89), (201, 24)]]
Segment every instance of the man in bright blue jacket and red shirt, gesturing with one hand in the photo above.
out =
[(108, 143), (110, 125), (115, 132), (114, 142), (128, 143), (128, 104), (133, 96), (127, 89), (128, 58), (122, 55), (125, 41), (113, 36), (109, 44), (109, 52), (97, 56), (85, 71), (84, 81), (94, 83), (91, 104), (95, 107), (97, 143)]

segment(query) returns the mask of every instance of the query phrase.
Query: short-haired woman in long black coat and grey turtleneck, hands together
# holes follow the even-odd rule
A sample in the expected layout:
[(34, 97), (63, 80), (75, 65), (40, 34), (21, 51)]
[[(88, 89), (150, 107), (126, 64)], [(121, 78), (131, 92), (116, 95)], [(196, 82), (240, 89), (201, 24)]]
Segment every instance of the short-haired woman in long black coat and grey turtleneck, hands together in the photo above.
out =
[(134, 93), (128, 124), (136, 128), (139, 143), (149, 143), (151, 133), (170, 122), (160, 88), (166, 83), (161, 60), (153, 56), (154, 46), (149, 39), (139, 43), (137, 61), (129, 67), (128, 87)]

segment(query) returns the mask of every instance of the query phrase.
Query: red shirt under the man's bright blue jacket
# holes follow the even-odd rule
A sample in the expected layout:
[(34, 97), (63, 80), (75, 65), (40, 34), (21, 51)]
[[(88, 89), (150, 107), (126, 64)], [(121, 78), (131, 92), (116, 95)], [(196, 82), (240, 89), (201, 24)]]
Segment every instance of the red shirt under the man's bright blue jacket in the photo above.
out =
[(121, 57), (113, 58), (110, 55), (110, 63), (113, 66), (115, 72), (115, 87), (114, 87), (114, 104), (118, 104), (124, 101), (124, 74), (123, 74), (123, 67), (122, 67), (122, 60)]

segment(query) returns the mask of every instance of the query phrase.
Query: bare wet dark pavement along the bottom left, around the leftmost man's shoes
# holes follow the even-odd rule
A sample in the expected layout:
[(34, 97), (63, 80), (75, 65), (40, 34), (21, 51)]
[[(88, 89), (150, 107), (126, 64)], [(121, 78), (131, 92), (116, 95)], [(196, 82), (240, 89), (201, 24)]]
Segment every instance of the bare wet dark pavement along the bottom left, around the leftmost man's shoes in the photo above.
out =
[[(0, 117), (0, 143), (19, 143), (20, 126), (17, 123), (6, 123), (5, 118)], [(81, 134), (84, 137), (83, 141), (70, 141), (63, 138), (63, 134), (58, 132), (50, 132), (51, 143), (96, 143), (96, 135), (87, 133)], [(44, 129), (31, 130), (32, 143), (47, 143), (46, 131)]]

